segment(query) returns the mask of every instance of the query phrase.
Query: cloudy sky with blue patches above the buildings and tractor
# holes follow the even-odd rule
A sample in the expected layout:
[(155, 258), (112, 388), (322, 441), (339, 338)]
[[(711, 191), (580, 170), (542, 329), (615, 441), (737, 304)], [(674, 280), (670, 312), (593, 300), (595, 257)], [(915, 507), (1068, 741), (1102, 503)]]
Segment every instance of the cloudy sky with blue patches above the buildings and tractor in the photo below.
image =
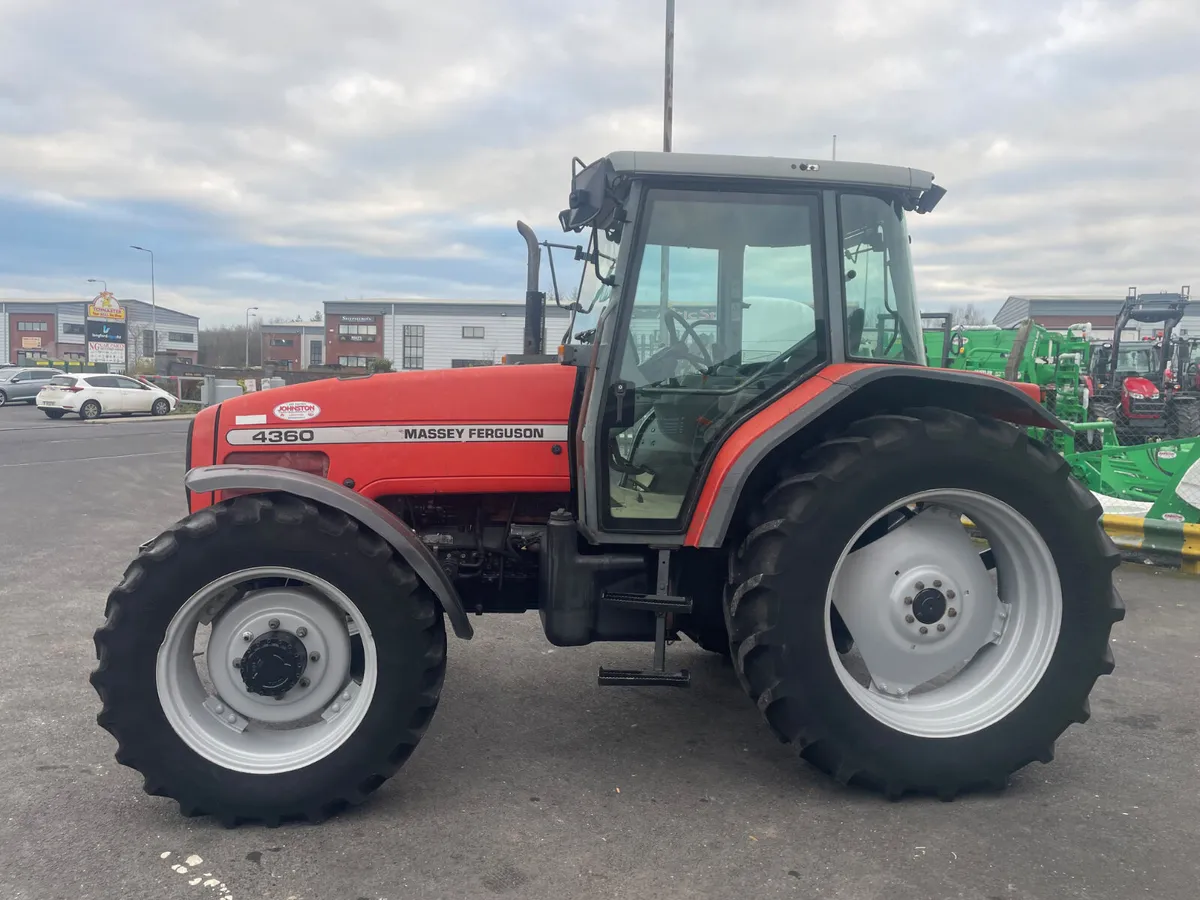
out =
[[(512, 298), (661, 144), (658, 0), (0, 0), (0, 295)], [(679, 0), (677, 150), (916, 166), (926, 310), (1200, 286), (1195, 0)]]

